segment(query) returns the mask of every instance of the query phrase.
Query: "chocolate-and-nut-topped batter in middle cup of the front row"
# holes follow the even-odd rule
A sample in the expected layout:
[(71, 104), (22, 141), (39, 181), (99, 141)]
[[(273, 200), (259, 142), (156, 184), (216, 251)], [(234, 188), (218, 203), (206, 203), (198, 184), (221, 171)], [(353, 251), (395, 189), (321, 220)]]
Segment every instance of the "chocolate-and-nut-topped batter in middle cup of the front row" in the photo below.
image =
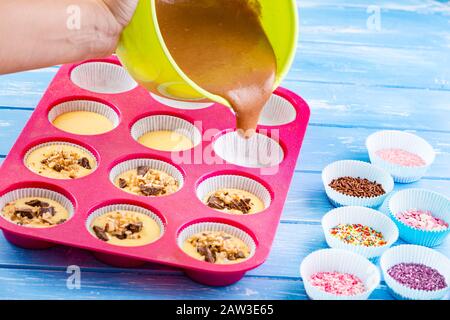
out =
[(152, 243), (161, 236), (154, 219), (135, 211), (105, 213), (92, 221), (91, 230), (102, 241), (129, 247)]

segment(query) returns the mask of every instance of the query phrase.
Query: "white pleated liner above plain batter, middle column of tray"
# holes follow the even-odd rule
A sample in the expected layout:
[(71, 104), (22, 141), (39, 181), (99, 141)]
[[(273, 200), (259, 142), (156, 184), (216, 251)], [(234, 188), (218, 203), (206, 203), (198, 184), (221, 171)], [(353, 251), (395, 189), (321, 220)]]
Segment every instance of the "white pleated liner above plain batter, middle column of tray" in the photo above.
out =
[(192, 141), (194, 147), (202, 142), (202, 134), (192, 123), (168, 115), (149, 116), (137, 121), (131, 127), (131, 136), (137, 141), (144, 134), (152, 131), (174, 131), (182, 134)]

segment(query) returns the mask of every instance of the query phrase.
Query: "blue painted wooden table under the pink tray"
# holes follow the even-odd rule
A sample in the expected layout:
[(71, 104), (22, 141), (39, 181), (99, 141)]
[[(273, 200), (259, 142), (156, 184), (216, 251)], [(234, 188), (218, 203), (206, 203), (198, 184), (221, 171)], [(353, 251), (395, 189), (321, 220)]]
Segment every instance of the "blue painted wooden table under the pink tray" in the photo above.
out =
[[(235, 285), (211, 288), (179, 270), (111, 268), (82, 250), (24, 250), (0, 236), (0, 298), (306, 299), (299, 265), (306, 255), (326, 247), (320, 219), (332, 208), (321, 170), (340, 159), (368, 161), (364, 141), (380, 129), (416, 132), (437, 151), (425, 178), (397, 190), (424, 187), (450, 196), (448, 2), (300, 0), (298, 7), (298, 53), (283, 85), (309, 102), (312, 118), (265, 264)], [(57, 70), (0, 77), (1, 158)], [(437, 250), (450, 256), (450, 239)], [(69, 265), (81, 268), (80, 289), (66, 286)], [(371, 298), (392, 299), (384, 283)]]

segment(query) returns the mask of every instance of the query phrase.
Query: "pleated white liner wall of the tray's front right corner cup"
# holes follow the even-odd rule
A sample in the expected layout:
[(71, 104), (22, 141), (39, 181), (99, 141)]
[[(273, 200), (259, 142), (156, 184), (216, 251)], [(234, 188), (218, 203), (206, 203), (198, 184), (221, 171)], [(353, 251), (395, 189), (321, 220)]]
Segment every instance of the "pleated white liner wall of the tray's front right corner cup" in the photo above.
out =
[[(252, 258), (255, 255), (256, 252), (256, 243), (255, 240), (245, 231), (233, 227), (229, 224), (225, 223), (217, 223), (217, 222), (200, 222), (196, 224), (192, 224), (186, 228), (184, 228), (177, 238), (177, 244), (178, 246), (183, 249), (184, 242), (192, 237), (194, 234), (200, 233), (200, 232), (225, 232), (229, 235), (236, 237), (243, 241), (250, 249), (250, 255), (245, 259), (248, 260)], [(194, 258), (193, 258), (194, 259)], [(243, 261), (241, 261), (243, 262)]]

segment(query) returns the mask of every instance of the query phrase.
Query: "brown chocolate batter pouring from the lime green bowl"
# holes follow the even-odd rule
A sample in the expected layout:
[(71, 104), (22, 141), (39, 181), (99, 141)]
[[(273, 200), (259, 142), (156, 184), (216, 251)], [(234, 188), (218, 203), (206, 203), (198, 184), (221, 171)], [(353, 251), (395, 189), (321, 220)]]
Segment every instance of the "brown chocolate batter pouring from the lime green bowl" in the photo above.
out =
[[(180, 68), (230, 102), (249, 136), (270, 98), (276, 57), (255, 0), (157, 0), (164, 41)], [(242, 133), (242, 131), (241, 131)]]

